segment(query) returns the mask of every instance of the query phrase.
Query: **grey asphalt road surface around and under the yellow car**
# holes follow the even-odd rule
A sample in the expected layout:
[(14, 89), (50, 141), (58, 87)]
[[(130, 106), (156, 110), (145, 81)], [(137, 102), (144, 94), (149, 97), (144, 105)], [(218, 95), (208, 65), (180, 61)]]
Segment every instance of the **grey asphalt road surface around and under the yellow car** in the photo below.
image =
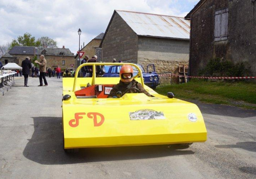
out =
[[(208, 140), (168, 145), (62, 149), (62, 79), (16, 79), (0, 96), (0, 178), (256, 178), (256, 110), (198, 103)], [(2, 95), (0, 93), (0, 95)]]

